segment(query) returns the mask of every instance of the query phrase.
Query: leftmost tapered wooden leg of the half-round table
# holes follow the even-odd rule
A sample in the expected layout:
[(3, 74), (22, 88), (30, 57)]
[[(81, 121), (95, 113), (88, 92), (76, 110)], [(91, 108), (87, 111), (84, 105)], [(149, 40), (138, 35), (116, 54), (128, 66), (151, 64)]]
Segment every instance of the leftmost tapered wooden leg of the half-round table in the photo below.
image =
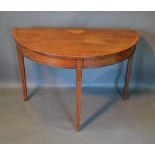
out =
[(26, 77), (25, 77), (24, 56), (20, 51), (18, 51), (18, 64), (19, 64), (20, 79), (22, 84), (23, 100), (27, 101), (28, 97), (27, 97)]

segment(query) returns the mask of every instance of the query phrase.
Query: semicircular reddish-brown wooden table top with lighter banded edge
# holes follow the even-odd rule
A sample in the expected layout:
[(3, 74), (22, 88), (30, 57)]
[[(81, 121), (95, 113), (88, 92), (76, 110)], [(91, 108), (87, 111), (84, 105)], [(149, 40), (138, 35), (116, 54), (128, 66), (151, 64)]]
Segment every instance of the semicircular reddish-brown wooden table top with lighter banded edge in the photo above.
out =
[(33, 52), (61, 58), (115, 55), (135, 46), (139, 35), (126, 29), (16, 28), (15, 41)]

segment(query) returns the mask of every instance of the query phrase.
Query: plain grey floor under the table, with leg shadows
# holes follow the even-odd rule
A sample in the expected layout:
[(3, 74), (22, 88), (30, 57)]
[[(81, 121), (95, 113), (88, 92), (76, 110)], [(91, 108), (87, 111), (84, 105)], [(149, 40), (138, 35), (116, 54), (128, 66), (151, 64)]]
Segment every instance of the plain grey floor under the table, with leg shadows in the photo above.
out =
[(81, 132), (75, 132), (75, 88), (0, 89), (0, 143), (155, 143), (155, 91), (83, 88)]

